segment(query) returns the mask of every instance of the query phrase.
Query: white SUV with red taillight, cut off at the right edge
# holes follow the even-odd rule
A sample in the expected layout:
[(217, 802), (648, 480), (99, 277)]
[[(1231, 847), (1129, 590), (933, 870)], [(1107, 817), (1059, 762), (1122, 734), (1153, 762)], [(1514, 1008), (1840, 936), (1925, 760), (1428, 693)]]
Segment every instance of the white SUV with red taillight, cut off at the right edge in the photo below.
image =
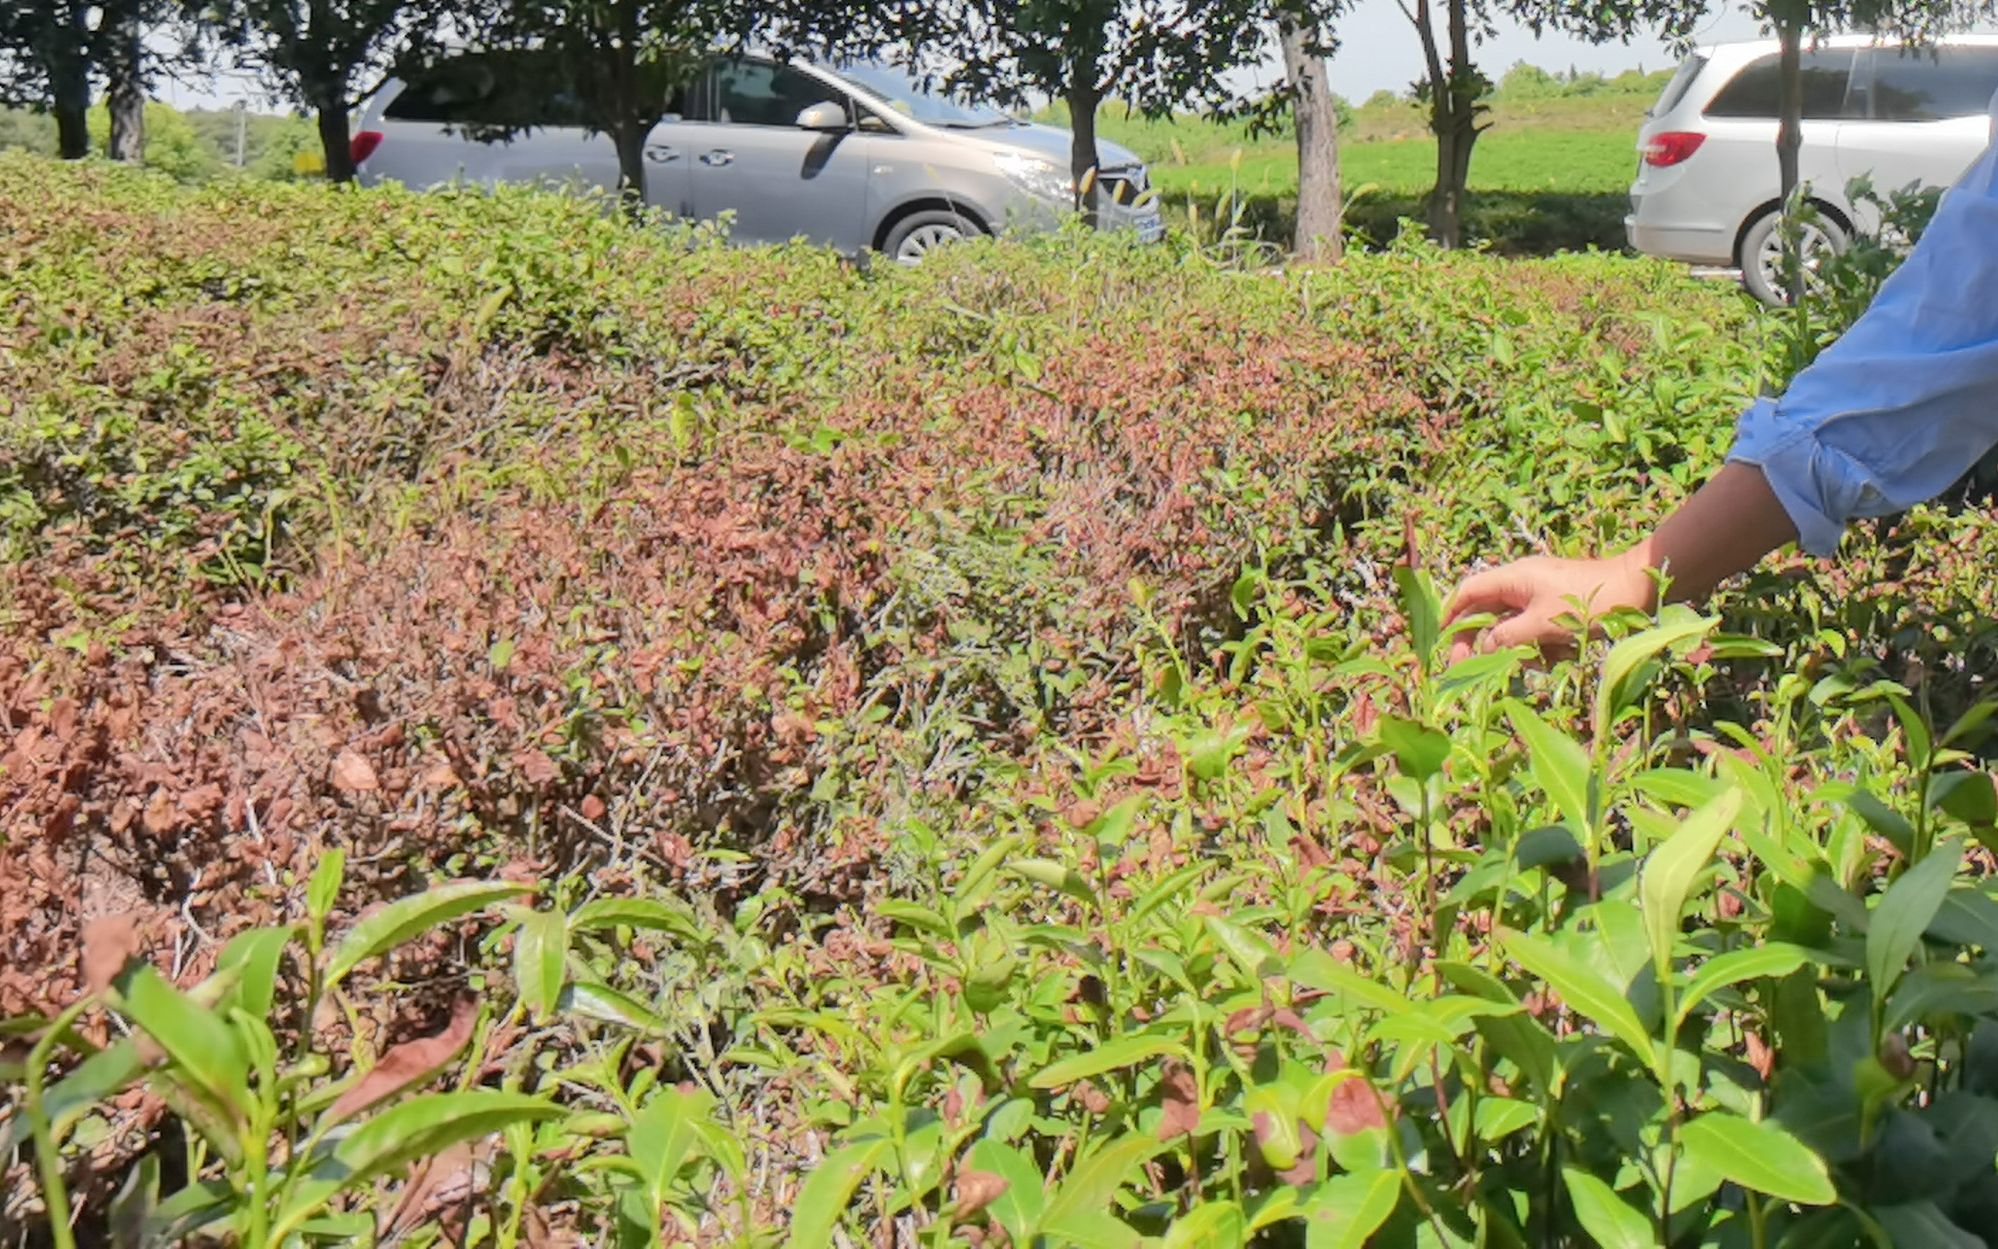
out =
[[(1846, 202), (1868, 174), (1882, 192), (1948, 186), (1990, 142), (1998, 36), (1904, 48), (1838, 36), (1804, 48), (1804, 146), (1798, 178), (1818, 208), (1806, 264), (1874, 230)], [(1738, 266), (1766, 304), (1782, 302), (1776, 170), (1776, 42), (1700, 48), (1646, 116), (1630, 184), (1630, 246), (1690, 264)]]

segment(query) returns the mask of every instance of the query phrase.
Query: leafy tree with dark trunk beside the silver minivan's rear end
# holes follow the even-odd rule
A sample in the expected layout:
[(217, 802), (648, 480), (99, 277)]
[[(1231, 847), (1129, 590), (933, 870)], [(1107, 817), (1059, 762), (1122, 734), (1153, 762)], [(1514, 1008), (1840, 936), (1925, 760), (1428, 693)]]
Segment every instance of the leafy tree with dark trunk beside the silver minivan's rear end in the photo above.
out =
[(326, 176), (354, 180), (352, 114), (400, 56), (468, 20), (446, 0), (214, 0), (204, 26), (252, 66), (268, 92), (318, 122)]

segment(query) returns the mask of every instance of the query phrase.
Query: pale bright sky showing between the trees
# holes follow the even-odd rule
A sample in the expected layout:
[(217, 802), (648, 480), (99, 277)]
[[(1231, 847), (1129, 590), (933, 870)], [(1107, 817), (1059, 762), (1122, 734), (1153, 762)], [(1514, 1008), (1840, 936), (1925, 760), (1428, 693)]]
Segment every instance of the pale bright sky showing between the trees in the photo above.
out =
[[(1401, 14), (1397, 0), (1359, 0), (1347, 16), (1339, 20), (1339, 54), (1333, 56), (1333, 90), (1355, 104), (1377, 90), (1405, 92), (1423, 74), (1423, 46), (1415, 30)], [(1754, 18), (1736, 8), (1724, 8), (1704, 28), (1696, 42), (1746, 40), (1756, 38)], [(1498, 78), (1512, 62), (1526, 60), (1542, 70), (1596, 70), (1616, 74), (1620, 70), (1662, 70), (1678, 64), (1678, 58), (1660, 40), (1640, 38), (1630, 44), (1590, 46), (1566, 36), (1534, 38), (1516, 22), (1500, 22), (1498, 34), (1477, 50), (1479, 66)], [(1249, 80), (1275, 78), (1275, 66), (1265, 74), (1249, 74)], [(236, 100), (250, 100), (252, 108), (274, 108), (258, 98), (256, 84), (246, 76), (218, 74), (198, 82), (162, 84), (160, 98), (176, 108), (228, 108)]]

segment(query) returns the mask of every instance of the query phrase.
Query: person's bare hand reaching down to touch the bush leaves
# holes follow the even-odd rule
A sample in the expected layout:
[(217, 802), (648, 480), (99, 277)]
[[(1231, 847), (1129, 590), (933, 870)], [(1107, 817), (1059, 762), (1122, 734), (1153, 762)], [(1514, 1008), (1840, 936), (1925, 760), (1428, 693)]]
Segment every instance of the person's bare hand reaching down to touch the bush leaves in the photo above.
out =
[(1542, 653), (1564, 655), (1574, 649), (1574, 625), (1560, 622), (1572, 622), (1576, 604), (1588, 616), (1606, 616), (1616, 608), (1650, 610), (1654, 594), (1650, 570), (1628, 554), (1602, 560), (1516, 560), (1465, 578), (1451, 596), (1445, 625), (1481, 612), (1498, 616), (1498, 624), (1485, 629), (1475, 645), (1459, 637), (1451, 659), (1506, 645), (1536, 645)]

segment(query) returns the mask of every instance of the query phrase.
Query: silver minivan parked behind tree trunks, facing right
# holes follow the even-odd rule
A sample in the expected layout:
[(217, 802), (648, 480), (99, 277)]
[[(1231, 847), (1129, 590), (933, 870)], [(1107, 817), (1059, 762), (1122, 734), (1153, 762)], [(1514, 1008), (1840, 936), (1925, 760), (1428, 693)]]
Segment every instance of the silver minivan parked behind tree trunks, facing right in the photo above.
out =
[[(549, 92), (533, 52), (458, 52), (368, 104), (354, 136), (364, 184), (617, 184), (617, 152)], [(731, 218), (741, 242), (807, 238), (917, 262), (969, 234), (1047, 230), (1073, 208), (1069, 132), (957, 104), (901, 70), (763, 56), (713, 60), (665, 102), (645, 142), (645, 200)], [(509, 138), (494, 140), (496, 132)], [(1099, 140), (1097, 222), (1163, 236), (1145, 164)]]

